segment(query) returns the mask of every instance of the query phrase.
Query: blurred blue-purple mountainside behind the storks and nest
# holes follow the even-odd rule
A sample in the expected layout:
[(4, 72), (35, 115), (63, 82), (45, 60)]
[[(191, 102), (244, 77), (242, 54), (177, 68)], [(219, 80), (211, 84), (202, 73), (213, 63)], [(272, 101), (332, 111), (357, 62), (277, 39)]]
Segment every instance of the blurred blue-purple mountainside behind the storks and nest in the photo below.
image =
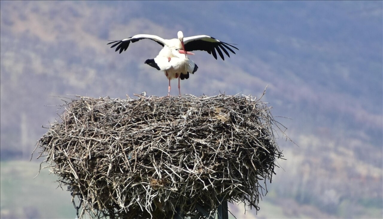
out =
[(61, 97), (165, 96), (164, 73), (144, 64), (157, 43), (122, 54), (106, 44), (178, 30), (239, 48), (224, 61), (195, 51), (199, 69), (181, 82), (183, 94), (260, 97), (268, 86), (263, 101), (298, 145), (280, 136), (287, 160), (257, 214), (230, 206), (237, 218), (381, 217), (382, 11), (381, 1), (1, 1), (0, 217), (75, 217), (55, 176), (33, 179), (41, 126), (61, 113)]

